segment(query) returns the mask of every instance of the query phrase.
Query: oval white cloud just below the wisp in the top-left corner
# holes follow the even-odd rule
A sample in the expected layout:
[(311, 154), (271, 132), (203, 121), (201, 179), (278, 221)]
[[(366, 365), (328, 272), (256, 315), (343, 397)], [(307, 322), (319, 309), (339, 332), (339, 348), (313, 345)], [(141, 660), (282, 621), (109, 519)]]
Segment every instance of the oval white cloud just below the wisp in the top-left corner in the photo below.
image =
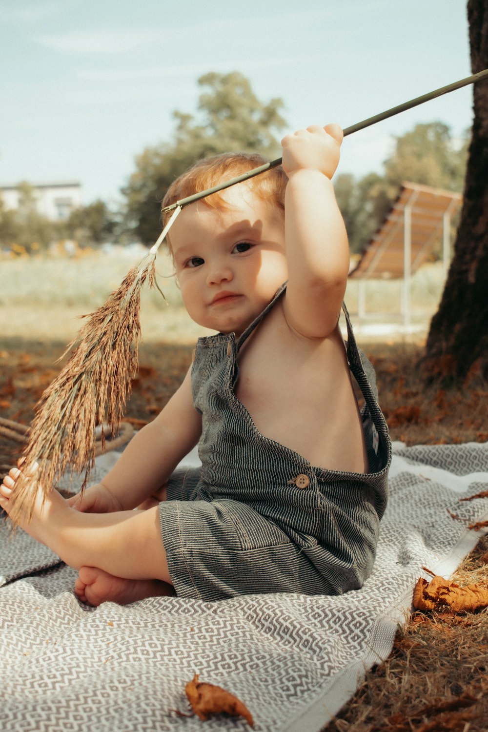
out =
[(33, 40), (56, 51), (68, 53), (94, 54), (127, 53), (158, 37), (151, 29), (119, 29), (117, 31), (74, 31), (59, 35), (35, 36)]

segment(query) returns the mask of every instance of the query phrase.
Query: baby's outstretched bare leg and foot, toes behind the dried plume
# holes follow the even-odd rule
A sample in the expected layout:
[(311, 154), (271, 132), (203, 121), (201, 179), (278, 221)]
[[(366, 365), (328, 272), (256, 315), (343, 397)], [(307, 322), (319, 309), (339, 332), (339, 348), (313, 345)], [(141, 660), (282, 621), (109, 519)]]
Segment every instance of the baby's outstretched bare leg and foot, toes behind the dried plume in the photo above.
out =
[[(0, 486), (0, 506), (7, 513), (19, 475), (13, 469)], [(70, 567), (94, 567), (115, 578), (160, 580), (171, 585), (157, 507), (81, 513), (70, 508), (56, 490), (50, 490), (42, 501), (39, 490), (31, 520), (24, 518), (19, 524)]]

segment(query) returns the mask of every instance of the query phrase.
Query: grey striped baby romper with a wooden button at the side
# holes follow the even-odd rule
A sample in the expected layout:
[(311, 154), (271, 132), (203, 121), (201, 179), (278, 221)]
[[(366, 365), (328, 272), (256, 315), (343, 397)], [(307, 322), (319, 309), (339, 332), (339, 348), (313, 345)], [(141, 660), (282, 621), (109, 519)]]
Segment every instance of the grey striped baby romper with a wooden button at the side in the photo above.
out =
[(375, 372), (356, 346), (345, 306), (348, 362), (364, 397), (369, 473), (312, 466), (263, 436), (233, 392), (239, 348), (284, 291), (282, 285), (237, 341), (233, 333), (198, 340), (192, 391), (202, 414), (202, 466), (176, 470), (168, 498), (159, 504), (162, 541), (179, 597), (342, 594), (361, 587), (372, 570), (391, 442)]

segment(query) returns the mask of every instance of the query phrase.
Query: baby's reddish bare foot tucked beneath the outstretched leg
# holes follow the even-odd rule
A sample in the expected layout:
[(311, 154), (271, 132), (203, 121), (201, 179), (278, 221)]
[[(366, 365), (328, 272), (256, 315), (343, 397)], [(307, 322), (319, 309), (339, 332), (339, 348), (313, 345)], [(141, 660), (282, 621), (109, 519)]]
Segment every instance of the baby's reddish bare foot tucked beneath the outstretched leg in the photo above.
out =
[(129, 605), (146, 597), (174, 596), (175, 591), (162, 580), (124, 580), (97, 567), (80, 567), (75, 594), (81, 602), (98, 607), (102, 602)]

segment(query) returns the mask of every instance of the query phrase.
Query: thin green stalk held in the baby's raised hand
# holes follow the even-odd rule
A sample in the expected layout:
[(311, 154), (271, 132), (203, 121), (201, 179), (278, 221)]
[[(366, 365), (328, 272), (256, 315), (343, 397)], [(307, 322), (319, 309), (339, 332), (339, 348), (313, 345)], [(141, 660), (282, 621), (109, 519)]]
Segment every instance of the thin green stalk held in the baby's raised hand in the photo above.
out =
[[(372, 124), (382, 122), (383, 119), (388, 119), (388, 117), (393, 117), (395, 114), (405, 112), (408, 109), (417, 107), (419, 104), (424, 104), (424, 102), (429, 102), (436, 97), (441, 97), (443, 94), (448, 94), (449, 91), (461, 89), (462, 86), (468, 86), (468, 84), (473, 84), (476, 83), (476, 81), (482, 81), (483, 79), (488, 79), (488, 69), (485, 69), (484, 71), (479, 71), (477, 74), (467, 76), (466, 78), (460, 79), (459, 81), (453, 81), (447, 86), (441, 86), (440, 89), (429, 91), (427, 94), (422, 94), (421, 97), (416, 97), (415, 99), (412, 99), (408, 102), (403, 102), (403, 104), (399, 104), (396, 107), (387, 109), (385, 112), (380, 112), (379, 114), (375, 114), (372, 117), (363, 119), (362, 122), (356, 122), (356, 124), (351, 124), (350, 127), (345, 128), (344, 136), (346, 137), (347, 135), (351, 135), (353, 132), (364, 130), (365, 127), (370, 127)], [(203, 190), (200, 193), (194, 193), (193, 195), (187, 196), (187, 198), (180, 198), (179, 201), (171, 203), (170, 206), (166, 206), (164, 209), (162, 209), (162, 212), (164, 213), (168, 211), (173, 211), (173, 209), (177, 208), (182, 209), (184, 206), (188, 206), (189, 203), (199, 201), (200, 198), (206, 198), (207, 195), (217, 193), (217, 191), (219, 190), (225, 190), (225, 188), (228, 188), (231, 185), (235, 185), (236, 183), (241, 183), (249, 178), (254, 178), (254, 176), (258, 176), (260, 173), (269, 171), (271, 168), (277, 168), (277, 165), (281, 164), (282, 158), (278, 157), (277, 160), (271, 160), (269, 163), (264, 163), (264, 165), (260, 165), (258, 168), (253, 168), (252, 171), (242, 173), (240, 176), (236, 176), (235, 178), (231, 178), (228, 181), (224, 181), (222, 183), (214, 185), (213, 187), (207, 188), (207, 190)], [(171, 223), (172, 221), (170, 220), (165, 229), (165, 232), (169, 230)], [(162, 242), (162, 239), (164, 239), (164, 236), (162, 236), (161, 234), (157, 243)], [(154, 244), (154, 246), (156, 246), (156, 244)]]

